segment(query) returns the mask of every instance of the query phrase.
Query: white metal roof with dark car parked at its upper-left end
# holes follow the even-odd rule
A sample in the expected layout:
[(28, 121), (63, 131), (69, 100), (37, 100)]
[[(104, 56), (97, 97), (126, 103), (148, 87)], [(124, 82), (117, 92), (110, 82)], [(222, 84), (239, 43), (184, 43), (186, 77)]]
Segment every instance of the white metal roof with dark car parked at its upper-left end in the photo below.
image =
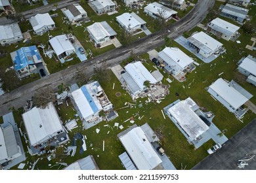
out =
[(192, 58), (184, 54), (179, 48), (166, 47), (159, 52), (158, 56), (169, 66), (175, 67), (177, 70), (183, 70), (194, 62)]

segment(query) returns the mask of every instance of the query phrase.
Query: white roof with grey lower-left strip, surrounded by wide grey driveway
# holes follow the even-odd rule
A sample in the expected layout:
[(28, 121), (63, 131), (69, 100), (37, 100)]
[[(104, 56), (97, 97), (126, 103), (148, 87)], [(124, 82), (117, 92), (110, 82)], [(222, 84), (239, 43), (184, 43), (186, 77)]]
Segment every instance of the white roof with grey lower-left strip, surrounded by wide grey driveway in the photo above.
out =
[(223, 46), (223, 44), (203, 31), (194, 33), (191, 37), (188, 38), (188, 41), (202, 49), (206, 53), (213, 52)]

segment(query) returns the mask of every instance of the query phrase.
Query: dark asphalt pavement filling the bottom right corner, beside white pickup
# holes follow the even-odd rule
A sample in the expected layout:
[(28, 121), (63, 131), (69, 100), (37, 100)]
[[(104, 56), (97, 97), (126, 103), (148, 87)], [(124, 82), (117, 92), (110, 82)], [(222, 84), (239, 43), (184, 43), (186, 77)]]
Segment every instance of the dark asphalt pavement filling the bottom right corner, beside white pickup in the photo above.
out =
[[(246, 125), (215, 154), (200, 161), (193, 170), (238, 170), (237, 163), (241, 159), (249, 159), (247, 155), (256, 154), (256, 119)], [(256, 159), (256, 156), (255, 158)], [(256, 161), (247, 161), (245, 170), (255, 170)]]

